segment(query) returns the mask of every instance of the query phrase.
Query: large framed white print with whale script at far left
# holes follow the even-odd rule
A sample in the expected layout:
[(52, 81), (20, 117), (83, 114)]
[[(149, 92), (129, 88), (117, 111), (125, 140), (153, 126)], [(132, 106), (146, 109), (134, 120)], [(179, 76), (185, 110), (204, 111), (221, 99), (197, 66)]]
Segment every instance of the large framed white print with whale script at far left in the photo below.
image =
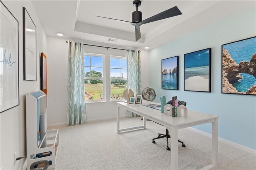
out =
[(0, 1), (0, 113), (20, 105), (19, 22)]

